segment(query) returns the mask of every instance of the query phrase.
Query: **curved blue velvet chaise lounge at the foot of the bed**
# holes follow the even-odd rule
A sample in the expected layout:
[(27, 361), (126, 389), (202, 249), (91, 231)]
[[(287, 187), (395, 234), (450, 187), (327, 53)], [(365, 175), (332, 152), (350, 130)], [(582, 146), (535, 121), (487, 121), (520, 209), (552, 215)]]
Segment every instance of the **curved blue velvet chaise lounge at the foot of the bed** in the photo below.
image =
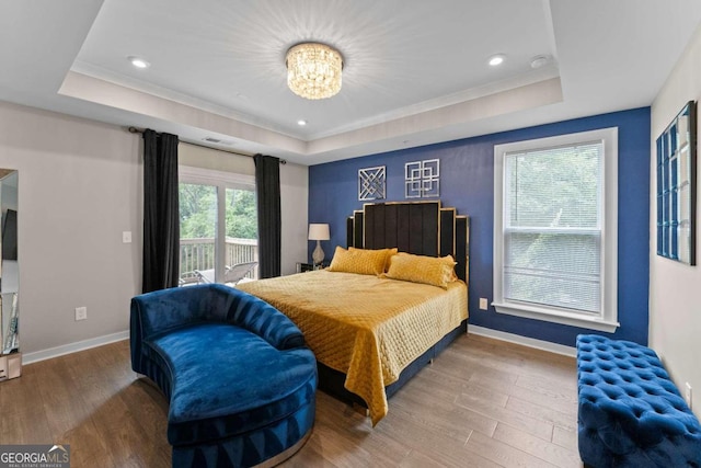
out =
[(267, 303), (207, 284), (131, 299), (131, 367), (170, 399), (173, 467), (272, 466), (314, 421), (317, 359)]

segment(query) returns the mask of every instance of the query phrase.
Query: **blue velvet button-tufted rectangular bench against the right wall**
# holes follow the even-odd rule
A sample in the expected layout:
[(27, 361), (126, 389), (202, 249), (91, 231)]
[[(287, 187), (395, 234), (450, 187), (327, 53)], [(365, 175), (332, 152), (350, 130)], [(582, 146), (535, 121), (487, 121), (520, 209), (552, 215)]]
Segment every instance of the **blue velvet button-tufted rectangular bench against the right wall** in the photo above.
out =
[(586, 466), (701, 467), (701, 426), (655, 352), (577, 336), (579, 456)]

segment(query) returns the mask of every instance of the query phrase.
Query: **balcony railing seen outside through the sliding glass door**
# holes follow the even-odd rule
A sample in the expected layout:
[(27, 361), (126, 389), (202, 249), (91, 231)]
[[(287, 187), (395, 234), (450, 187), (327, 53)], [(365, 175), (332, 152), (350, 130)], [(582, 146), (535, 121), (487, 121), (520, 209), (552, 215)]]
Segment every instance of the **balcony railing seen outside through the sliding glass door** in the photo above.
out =
[[(258, 261), (257, 239), (235, 239), (228, 237), (225, 242), (225, 263), (229, 266), (237, 263)], [(180, 277), (182, 282), (195, 282), (195, 270), (212, 270), (215, 267), (215, 240), (210, 238), (180, 240)], [(245, 277), (258, 277), (256, 265)]]

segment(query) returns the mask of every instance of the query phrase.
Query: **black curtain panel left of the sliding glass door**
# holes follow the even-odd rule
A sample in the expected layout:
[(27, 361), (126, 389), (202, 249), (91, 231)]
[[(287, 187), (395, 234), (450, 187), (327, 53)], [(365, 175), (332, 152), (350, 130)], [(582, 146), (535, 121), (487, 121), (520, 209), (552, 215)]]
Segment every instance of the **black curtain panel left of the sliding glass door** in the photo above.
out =
[(177, 135), (143, 132), (143, 270), (141, 290), (177, 286), (180, 276)]

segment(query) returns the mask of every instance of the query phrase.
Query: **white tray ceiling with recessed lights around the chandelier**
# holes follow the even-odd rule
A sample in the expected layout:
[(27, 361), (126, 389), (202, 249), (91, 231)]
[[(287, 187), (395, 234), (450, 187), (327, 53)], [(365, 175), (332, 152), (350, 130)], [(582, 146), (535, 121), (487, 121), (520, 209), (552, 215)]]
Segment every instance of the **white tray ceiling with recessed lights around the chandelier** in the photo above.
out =
[[(650, 105), (701, 2), (0, 0), (0, 100), (314, 164)], [(302, 41), (343, 54), (336, 96), (287, 89), (285, 53)], [(533, 69), (539, 55), (551, 60)]]

